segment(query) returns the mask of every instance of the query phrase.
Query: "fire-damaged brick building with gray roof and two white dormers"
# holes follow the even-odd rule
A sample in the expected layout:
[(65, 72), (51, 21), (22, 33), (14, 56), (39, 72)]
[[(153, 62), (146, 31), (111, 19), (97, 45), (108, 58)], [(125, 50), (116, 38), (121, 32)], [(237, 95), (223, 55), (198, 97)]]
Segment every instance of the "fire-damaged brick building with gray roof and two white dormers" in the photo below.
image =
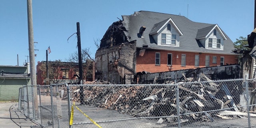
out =
[(138, 72), (237, 64), (218, 26), (184, 16), (139, 11), (110, 25), (95, 55), (96, 78), (130, 84)]

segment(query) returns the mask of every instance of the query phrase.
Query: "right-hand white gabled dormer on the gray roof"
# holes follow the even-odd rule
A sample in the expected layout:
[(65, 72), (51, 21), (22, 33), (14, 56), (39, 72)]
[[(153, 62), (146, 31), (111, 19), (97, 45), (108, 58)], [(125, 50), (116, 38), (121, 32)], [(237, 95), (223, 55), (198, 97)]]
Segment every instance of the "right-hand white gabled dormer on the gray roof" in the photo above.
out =
[(206, 49), (223, 50), (226, 39), (217, 24), (199, 29), (196, 35), (196, 40), (199, 40)]

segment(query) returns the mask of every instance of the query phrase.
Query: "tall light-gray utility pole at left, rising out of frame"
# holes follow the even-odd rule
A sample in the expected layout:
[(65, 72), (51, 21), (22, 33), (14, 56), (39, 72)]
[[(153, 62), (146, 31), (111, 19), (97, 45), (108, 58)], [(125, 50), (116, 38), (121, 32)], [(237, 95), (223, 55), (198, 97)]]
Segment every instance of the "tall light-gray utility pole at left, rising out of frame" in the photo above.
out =
[(34, 109), (35, 116), (38, 118), (38, 102), (37, 102), (37, 87), (36, 87), (36, 65), (34, 56), (34, 35), (33, 35), (33, 18), (32, 18), (32, 0), (27, 0), (28, 14), (28, 50), (30, 60), (30, 81), (33, 85)]

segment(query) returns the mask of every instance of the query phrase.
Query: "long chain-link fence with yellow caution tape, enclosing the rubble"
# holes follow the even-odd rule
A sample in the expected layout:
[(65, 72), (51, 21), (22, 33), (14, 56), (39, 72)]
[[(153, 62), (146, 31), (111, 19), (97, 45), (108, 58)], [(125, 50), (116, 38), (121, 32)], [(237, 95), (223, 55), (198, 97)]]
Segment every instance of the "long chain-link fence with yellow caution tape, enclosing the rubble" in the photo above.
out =
[(38, 121), (53, 128), (256, 126), (254, 79), (190, 81), (38, 86)]

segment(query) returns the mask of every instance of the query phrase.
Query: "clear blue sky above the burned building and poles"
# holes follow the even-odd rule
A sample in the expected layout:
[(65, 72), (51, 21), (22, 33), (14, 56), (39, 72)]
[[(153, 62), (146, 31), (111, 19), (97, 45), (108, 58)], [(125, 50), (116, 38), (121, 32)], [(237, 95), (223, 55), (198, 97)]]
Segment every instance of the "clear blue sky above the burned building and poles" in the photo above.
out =
[[(19, 66), (27, 61), (28, 23), (26, 0), (0, 1), (0, 65)], [(188, 17), (194, 22), (218, 24), (235, 42), (254, 29), (254, 0), (33, 0), (36, 64), (46, 60), (66, 61), (77, 51), (76, 22), (80, 22), (81, 46), (97, 50), (108, 27), (122, 15), (145, 10)]]

